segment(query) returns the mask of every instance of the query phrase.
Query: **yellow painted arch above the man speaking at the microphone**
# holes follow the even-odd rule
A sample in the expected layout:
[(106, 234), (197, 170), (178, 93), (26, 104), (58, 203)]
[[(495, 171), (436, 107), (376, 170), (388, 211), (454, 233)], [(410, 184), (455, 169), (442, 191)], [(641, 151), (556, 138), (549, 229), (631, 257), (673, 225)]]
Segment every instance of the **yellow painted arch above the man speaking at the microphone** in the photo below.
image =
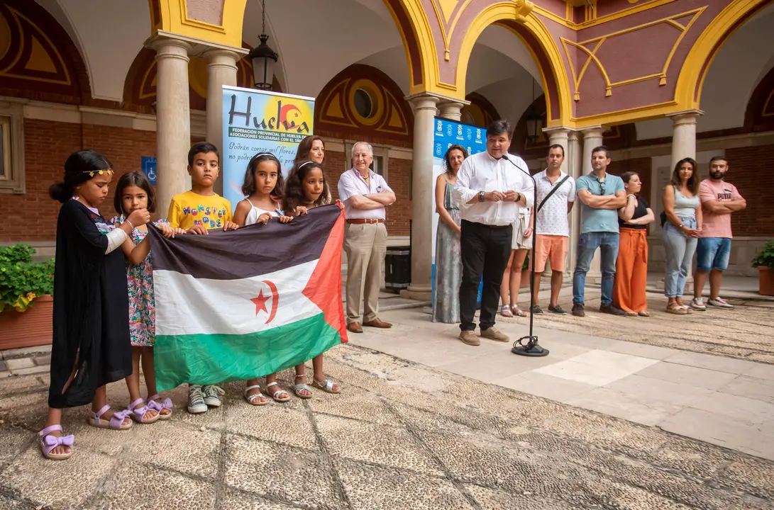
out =
[[(457, 94), (460, 95), (460, 97), (464, 97), (467, 63), (471, 58), (471, 52), (473, 51), (475, 42), (478, 40), (478, 37), (481, 36), (481, 32), (484, 32), (484, 29), (486, 29), (486, 27), (490, 26), (492, 23), (503, 20), (517, 20), (515, 16), (517, 9), (518, 7), (516, 7), (514, 2), (498, 2), (496, 4), (489, 5), (483, 11), (481, 11), (478, 16), (476, 16), (473, 22), (471, 22), (471, 26), (467, 29), (467, 32), (465, 33), (464, 39), (462, 41), (462, 45), (460, 47), (460, 56), (457, 60), (457, 83), (455, 84), (457, 86)], [(512, 31), (516, 36), (519, 36), (519, 39), (522, 39), (522, 42), (524, 42), (529, 49), (529, 53), (531, 53), (533, 59), (535, 59), (535, 63), (537, 64), (540, 71), (540, 79), (543, 82), (543, 90), (547, 90), (548, 87), (546, 83), (546, 72), (553, 73), (554, 80), (557, 83), (557, 93), (560, 105), (559, 119), (558, 121), (549, 120), (546, 124), (548, 124), (549, 127), (553, 125), (570, 125), (570, 79), (567, 77), (567, 70), (564, 68), (562, 56), (559, 53), (559, 49), (557, 48), (556, 43), (553, 41), (553, 38), (551, 37), (548, 29), (546, 29), (546, 26), (543, 25), (543, 22), (537, 18), (534, 12), (529, 12), (529, 15), (526, 15), (524, 19), (518, 19), (517, 21), (522, 23), (522, 25), (525, 26), (529, 32), (532, 32), (533, 36), (535, 36), (535, 38), (539, 41), (540, 46), (542, 46), (543, 51), (546, 52), (546, 56), (550, 61), (551, 69), (544, 70), (543, 67), (540, 66), (540, 62), (537, 59), (533, 48), (527, 45), (518, 33)], [(508, 27), (506, 26), (505, 28)], [(547, 108), (550, 108), (549, 103), (550, 101), (546, 101)], [(551, 118), (550, 110), (548, 110), (547, 118)]]

